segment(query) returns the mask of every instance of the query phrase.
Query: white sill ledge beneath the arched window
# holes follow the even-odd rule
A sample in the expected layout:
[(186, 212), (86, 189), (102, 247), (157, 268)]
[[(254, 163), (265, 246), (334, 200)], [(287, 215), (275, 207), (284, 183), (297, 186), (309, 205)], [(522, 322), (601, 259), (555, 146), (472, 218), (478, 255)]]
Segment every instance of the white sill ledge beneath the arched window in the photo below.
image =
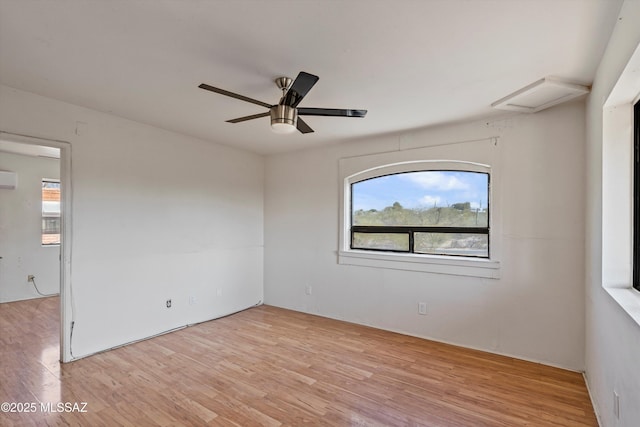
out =
[(454, 276), (481, 277), (486, 279), (500, 278), (500, 262), (484, 258), (473, 259), (349, 250), (338, 253), (338, 264), (421, 271)]

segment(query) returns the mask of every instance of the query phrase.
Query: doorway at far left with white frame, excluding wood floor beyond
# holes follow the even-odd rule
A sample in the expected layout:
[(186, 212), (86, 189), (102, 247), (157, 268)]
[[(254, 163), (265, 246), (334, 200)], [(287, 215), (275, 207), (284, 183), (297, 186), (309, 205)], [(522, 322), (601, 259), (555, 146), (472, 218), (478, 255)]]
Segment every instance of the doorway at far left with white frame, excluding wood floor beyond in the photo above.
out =
[[(0, 190), (5, 207), (0, 212), (5, 223), (0, 227), (0, 303), (59, 294), (59, 359), (67, 362), (71, 145), (0, 131), (0, 156), (0, 170), (8, 172), (7, 185)], [(56, 193), (59, 199), (54, 200)]]

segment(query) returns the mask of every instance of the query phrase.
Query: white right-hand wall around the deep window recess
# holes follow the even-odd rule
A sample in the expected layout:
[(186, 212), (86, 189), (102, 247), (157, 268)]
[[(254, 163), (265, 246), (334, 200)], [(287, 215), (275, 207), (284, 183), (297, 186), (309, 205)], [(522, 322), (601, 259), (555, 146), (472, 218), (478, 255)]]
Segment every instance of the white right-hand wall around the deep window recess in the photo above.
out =
[[(603, 272), (603, 178), (605, 183), (613, 178), (603, 177), (603, 149), (612, 148), (603, 146), (603, 104), (640, 44), (638, 22), (640, 2), (625, 1), (587, 103), (586, 377), (603, 427), (640, 423), (640, 325), (602, 287), (603, 280), (617, 274), (609, 267)], [(625, 218), (628, 213), (623, 212), (617, 221)], [(604, 254), (607, 264), (610, 255)], [(620, 395), (619, 419), (614, 391)]]

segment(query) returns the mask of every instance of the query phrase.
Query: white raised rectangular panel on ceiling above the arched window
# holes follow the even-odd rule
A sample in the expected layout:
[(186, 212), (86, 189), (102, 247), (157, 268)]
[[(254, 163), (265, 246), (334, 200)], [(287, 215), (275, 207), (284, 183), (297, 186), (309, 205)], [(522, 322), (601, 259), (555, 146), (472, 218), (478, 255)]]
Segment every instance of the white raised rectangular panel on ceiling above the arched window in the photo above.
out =
[(499, 110), (537, 113), (589, 93), (589, 87), (545, 77), (491, 104)]

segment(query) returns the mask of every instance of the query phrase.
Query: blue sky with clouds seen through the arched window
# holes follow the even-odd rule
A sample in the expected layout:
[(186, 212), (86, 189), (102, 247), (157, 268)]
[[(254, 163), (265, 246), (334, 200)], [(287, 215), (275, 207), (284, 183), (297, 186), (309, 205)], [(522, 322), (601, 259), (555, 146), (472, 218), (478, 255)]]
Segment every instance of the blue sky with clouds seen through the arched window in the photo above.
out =
[(489, 175), (468, 171), (420, 171), (387, 175), (353, 184), (353, 210), (382, 210), (395, 202), (408, 209), (470, 203), (486, 209)]

